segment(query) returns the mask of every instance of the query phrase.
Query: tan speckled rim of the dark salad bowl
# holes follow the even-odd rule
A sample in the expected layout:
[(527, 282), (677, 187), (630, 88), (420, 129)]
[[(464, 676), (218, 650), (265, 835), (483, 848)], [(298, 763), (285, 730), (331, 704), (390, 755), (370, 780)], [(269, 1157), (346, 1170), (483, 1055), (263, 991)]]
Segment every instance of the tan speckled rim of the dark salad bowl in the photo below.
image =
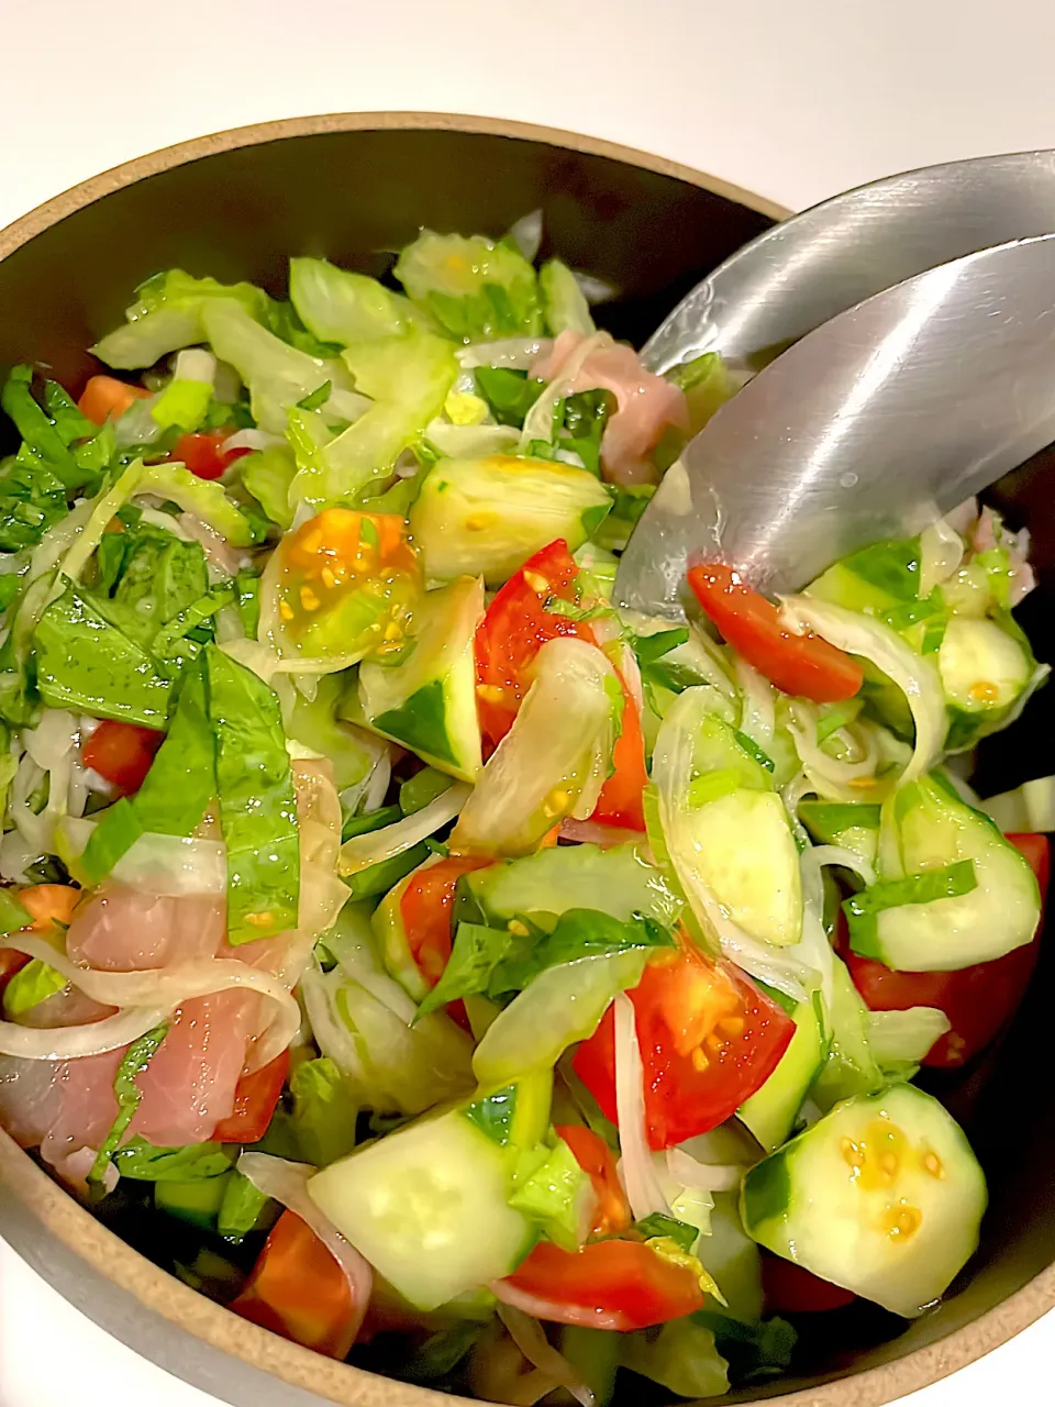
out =
[[(564, 151), (603, 156), (627, 166), (671, 176), (774, 219), (791, 214), (778, 203), (722, 177), (637, 148), (560, 128), (456, 113), (326, 113), (255, 122), (191, 138), (91, 176), (1, 228), (0, 260), (104, 196), (205, 156), (326, 132), (415, 129), (543, 142)], [(131, 1313), (128, 1306), (114, 1303), (110, 1306), (111, 1311), (100, 1313), (96, 1323), (106, 1320), (107, 1332), (205, 1392), (231, 1393), (228, 1397), (231, 1401), (246, 1400), (238, 1389), (235, 1375), (241, 1373), (241, 1365), (248, 1365), (257, 1370), (257, 1376), (270, 1375), (294, 1390), (301, 1389), (324, 1401), (343, 1403), (349, 1407), (380, 1407), (381, 1401), (388, 1407), (426, 1407), (429, 1403), (468, 1404), (468, 1399), (436, 1393), (324, 1358), (232, 1314), (155, 1266), (107, 1230), (76, 1197), (53, 1182), (3, 1128), (0, 1128), (0, 1186), (13, 1193), (20, 1204), (11, 1209), (7, 1199), (0, 1199), (0, 1234), (17, 1254), (63, 1297), (77, 1303), (89, 1317), (94, 1317), (90, 1304), (66, 1293), (63, 1258), (56, 1258), (48, 1249), (48, 1238), (55, 1238), (75, 1263), (77, 1259), (84, 1262), (90, 1272), (96, 1272), (110, 1287), (131, 1296)], [(20, 1213), (28, 1213), (35, 1224), (27, 1228), (24, 1218), (20, 1220)], [(975, 1362), (1006, 1344), (1052, 1307), (1055, 1307), (1055, 1263), (1038, 1272), (1027, 1285), (979, 1318), (952, 1330), (934, 1344), (912, 1349), (900, 1358), (848, 1377), (838, 1376), (816, 1387), (767, 1394), (754, 1400), (769, 1401), (778, 1407), (881, 1407)], [(167, 1330), (167, 1339), (162, 1346), (158, 1339), (163, 1330)], [(200, 1375), (196, 1376), (187, 1362), (184, 1334), (218, 1351), (214, 1358), (221, 1363), (221, 1370), (217, 1373), (214, 1363), (208, 1383), (203, 1382)], [(238, 1359), (241, 1363), (234, 1363), (231, 1359)], [(229, 1372), (222, 1370), (224, 1365), (229, 1365)], [(264, 1400), (270, 1396), (264, 1387)], [(300, 1393), (295, 1396), (300, 1399)], [(262, 1401), (259, 1389), (253, 1400)], [(281, 1400), (276, 1399), (276, 1407)]]

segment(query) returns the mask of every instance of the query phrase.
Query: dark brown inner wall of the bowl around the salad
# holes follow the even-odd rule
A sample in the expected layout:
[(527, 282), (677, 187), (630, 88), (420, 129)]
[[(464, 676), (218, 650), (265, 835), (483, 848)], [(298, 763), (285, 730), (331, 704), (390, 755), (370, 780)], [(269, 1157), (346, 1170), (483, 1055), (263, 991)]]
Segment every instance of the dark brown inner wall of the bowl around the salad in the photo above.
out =
[[(141, 179), (100, 182), (113, 187), (103, 198), (53, 203), (53, 211), (44, 212), (51, 222), (41, 219), (41, 231), (27, 242), (13, 234), (11, 252), (0, 259), (0, 364), (44, 363), (79, 388), (96, 369), (84, 349), (120, 321), (136, 283), (173, 265), (283, 294), (291, 253), (325, 255), (384, 274), (392, 252), (419, 225), (499, 235), (535, 208), (544, 214), (544, 252), (612, 284), (616, 294), (599, 310), (599, 321), (640, 342), (695, 281), (769, 224), (758, 210), (717, 193), (716, 183), (708, 189), (705, 177), (672, 174), (629, 152), (577, 149), (575, 139), (561, 145), (558, 136), (549, 142), (501, 135), (502, 124), (464, 131), (457, 120), (433, 127), (395, 120), (381, 129), (352, 122), (343, 124), (352, 129), (340, 129), (342, 120), (329, 125), (336, 129), (228, 135), (193, 160), (160, 153), (153, 169), (138, 163)], [(283, 124), (283, 132), (288, 128)], [(995, 499), (1014, 526), (1025, 522), (1034, 533), (1041, 585), (1021, 620), (1038, 657), (1051, 658), (1055, 512), (1051, 490), (1045, 494), (1044, 457), (1010, 476)], [(1041, 694), (1010, 734), (983, 749), (983, 792), (1055, 770), (1051, 753)], [(907, 1328), (864, 1304), (812, 1324), (802, 1317), (795, 1379), (743, 1392), (733, 1401), (819, 1386), (933, 1345), (1052, 1262), (1055, 1095), (1037, 1071), (1047, 1065), (1040, 1006), (1054, 962), (1048, 946), (1024, 1009), (978, 1068), (930, 1082), (964, 1121), (992, 1195), (982, 1248), (955, 1293)], [(37, 1263), (46, 1262), (32, 1255), (32, 1238), (17, 1240)], [(149, 1344), (136, 1346), (151, 1352)], [(958, 1361), (971, 1356), (964, 1351)], [(181, 1370), (196, 1376), (191, 1362)], [(211, 1386), (222, 1390), (215, 1380)], [(892, 1377), (889, 1393), (897, 1390)]]

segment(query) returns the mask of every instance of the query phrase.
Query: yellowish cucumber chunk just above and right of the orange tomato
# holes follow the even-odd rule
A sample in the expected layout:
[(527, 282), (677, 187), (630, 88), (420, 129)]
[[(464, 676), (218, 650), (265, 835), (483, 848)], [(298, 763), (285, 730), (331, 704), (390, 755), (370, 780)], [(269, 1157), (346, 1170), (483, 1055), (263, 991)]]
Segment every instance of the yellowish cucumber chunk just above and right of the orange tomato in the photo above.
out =
[(542, 547), (563, 537), (581, 547), (612, 507), (585, 469), (491, 454), (442, 459), (422, 483), (411, 532), (433, 581), (463, 573), (499, 587)]

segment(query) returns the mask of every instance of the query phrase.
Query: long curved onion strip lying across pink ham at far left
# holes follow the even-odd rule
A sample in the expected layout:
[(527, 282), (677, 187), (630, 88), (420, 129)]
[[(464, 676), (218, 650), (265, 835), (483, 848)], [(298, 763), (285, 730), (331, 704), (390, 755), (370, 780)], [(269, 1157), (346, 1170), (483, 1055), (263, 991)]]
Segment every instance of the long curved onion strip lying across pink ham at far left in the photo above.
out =
[[(196, 996), (211, 996), (214, 992), (232, 989), (256, 992), (259, 996), (270, 998), (279, 1009), (276, 1020), (260, 1041), (262, 1045), (266, 1043), (273, 1055), (286, 1050), (300, 1027), (301, 1013), (297, 1000), (286, 991), (279, 978), (260, 968), (252, 968), (248, 962), (239, 962), (236, 958), (198, 958), (193, 962), (176, 962), (167, 968), (148, 968), (142, 972), (97, 972), (94, 968), (83, 968), (70, 962), (65, 953), (56, 953), (45, 938), (32, 933), (14, 933), (0, 938), (0, 950), (3, 948), (28, 953), (30, 957), (39, 958), (41, 962), (53, 967), (68, 982), (90, 996), (93, 1002), (101, 1002), (103, 1006), (142, 1007), (151, 1005), (159, 1007), (165, 1014)], [(145, 1030), (149, 1029), (149, 1026), (145, 1027)], [(114, 1050), (114, 1045), (106, 1048)], [(18, 1052), (11, 1051), (10, 1054)], [(42, 1059), (44, 1057), (37, 1058)], [(260, 1059), (260, 1064), (263, 1065), (266, 1061)]]

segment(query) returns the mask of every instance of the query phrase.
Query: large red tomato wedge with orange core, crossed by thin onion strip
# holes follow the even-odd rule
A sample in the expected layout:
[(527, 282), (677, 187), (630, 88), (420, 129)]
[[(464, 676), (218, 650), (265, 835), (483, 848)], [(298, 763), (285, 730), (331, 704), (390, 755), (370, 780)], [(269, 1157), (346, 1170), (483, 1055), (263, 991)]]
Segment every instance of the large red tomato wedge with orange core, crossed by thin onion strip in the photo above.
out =
[[(724, 1123), (776, 1068), (795, 1023), (731, 962), (684, 943), (653, 958), (629, 993), (644, 1067), (653, 1148), (672, 1148)], [(609, 1007), (574, 1059), (575, 1072), (616, 1121), (615, 1013)]]

